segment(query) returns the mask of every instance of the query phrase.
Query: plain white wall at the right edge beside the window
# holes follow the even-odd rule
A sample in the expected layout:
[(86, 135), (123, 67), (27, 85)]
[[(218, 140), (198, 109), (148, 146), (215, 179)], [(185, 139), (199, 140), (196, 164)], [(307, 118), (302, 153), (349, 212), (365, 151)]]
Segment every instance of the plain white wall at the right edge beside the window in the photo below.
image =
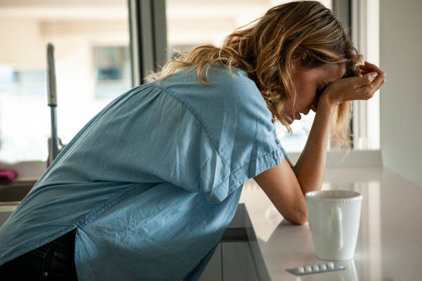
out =
[(380, 4), (383, 163), (422, 187), (422, 1)]

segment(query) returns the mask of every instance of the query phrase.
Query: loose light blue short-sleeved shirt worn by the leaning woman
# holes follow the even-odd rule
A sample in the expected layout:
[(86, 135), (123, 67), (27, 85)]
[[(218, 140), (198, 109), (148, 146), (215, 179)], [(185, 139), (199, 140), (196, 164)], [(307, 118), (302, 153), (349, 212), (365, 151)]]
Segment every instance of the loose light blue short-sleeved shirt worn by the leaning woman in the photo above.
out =
[(232, 70), (212, 65), (205, 86), (182, 70), (101, 110), (1, 227), (0, 264), (77, 229), (79, 280), (197, 280), (243, 183), (288, 157)]

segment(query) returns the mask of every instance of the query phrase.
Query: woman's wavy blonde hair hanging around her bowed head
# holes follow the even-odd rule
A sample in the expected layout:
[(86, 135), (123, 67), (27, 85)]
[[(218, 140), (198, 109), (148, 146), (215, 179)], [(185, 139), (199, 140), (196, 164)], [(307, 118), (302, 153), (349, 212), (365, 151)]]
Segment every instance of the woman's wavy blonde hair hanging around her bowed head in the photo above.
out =
[[(188, 54), (179, 52), (177, 59), (165, 63), (161, 71), (150, 74), (146, 81), (163, 81), (178, 70), (196, 65), (189, 72), (197, 69), (199, 83), (205, 85), (209, 82), (203, 76), (206, 65), (221, 63), (227, 65), (230, 72), (231, 67), (237, 67), (256, 83), (272, 113), (272, 123), (279, 120), (291, 133), (292, 120), (285, 114), (284, 103), (296, 96), (292, 83), (294, 56), (299, 52), (305, 67), (339, 63), (345, 65), (343, 78), (359, 76), (358, 65), (362, 58), (346, 32), (334, 14), (317, 1), (285, 3), (234, 30), (221, 48), (201, 45)], [(350, 149), (351, 116), (351, 101), (336, 107), (330, 133), (332, 148)]]

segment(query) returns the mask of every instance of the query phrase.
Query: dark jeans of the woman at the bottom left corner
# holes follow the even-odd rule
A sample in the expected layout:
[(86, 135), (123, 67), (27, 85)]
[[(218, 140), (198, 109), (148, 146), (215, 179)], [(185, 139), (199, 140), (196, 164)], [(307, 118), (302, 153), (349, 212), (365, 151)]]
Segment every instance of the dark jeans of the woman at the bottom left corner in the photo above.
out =
[(78, 280), (74, 265), (76, 229), (0, 266), (0, 280)]

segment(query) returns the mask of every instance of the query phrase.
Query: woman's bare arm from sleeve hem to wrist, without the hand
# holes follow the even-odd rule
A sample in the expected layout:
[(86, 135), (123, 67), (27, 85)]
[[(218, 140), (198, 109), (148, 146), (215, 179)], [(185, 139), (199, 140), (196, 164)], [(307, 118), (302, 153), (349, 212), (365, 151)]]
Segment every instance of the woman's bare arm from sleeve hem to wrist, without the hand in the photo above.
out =
[(305, 193), (321, 189), (333, 112), (333, 105), (319, 102), (308, 141), (293, 169), (285, 159), (254, 177), (280, 214), (295, 224), (305, 223), (308, 217)]

